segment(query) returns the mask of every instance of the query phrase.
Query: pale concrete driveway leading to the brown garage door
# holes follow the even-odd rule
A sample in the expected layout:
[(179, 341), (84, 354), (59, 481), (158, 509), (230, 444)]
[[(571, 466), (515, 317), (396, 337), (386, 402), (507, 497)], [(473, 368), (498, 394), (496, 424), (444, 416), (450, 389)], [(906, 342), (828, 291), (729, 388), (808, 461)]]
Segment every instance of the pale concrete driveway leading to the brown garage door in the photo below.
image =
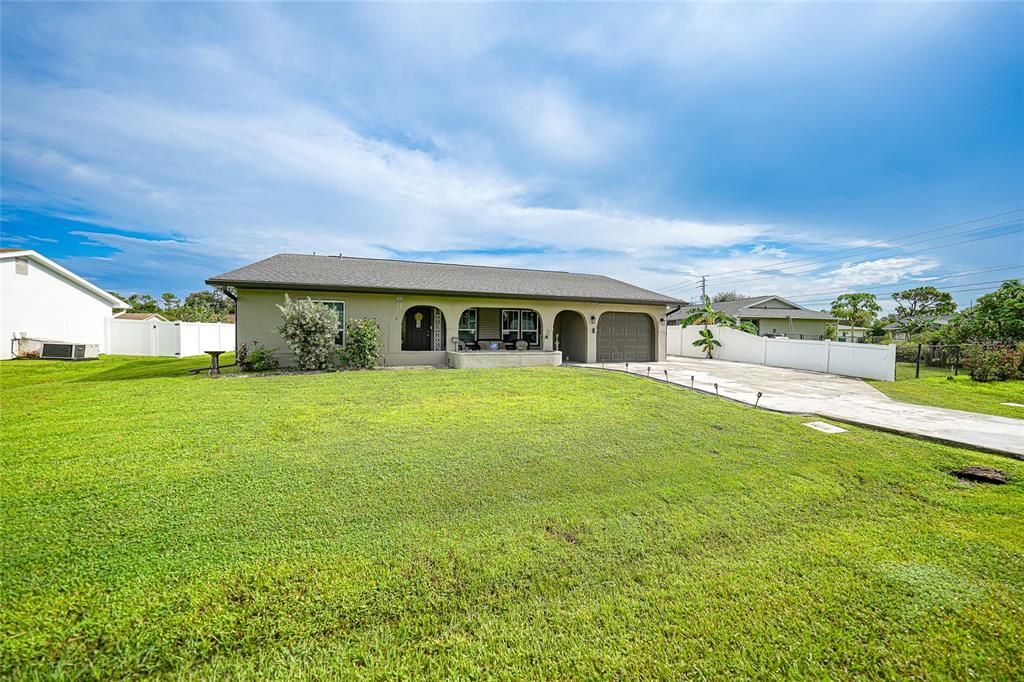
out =
[[(1024, 420), (898, 402), (860, 379), (670, 355), (667, 363), (585, 367), (629, 372), (779, 412), (931, 438), (1024, 459)], [(760, 401), (758, 392), (761, 392)]]

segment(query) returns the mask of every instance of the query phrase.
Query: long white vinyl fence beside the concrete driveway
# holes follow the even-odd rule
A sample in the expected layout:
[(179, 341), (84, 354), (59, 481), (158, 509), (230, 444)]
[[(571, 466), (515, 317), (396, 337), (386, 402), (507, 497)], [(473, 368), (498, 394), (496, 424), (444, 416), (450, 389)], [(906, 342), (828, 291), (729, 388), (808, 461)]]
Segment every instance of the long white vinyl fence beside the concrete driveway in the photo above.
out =
[[(670, 355), (706, 357), (693, 342), (703, 327), (669, 327)], [(842, 374), (864, 379), (896, 379), (896, 344), (837, 343), (835, 341), (797, 341), (754, 336), (726, 327), (709, 329), (722, 346), (714, 350), (716, 359), (787, 367), (826, 374)]]

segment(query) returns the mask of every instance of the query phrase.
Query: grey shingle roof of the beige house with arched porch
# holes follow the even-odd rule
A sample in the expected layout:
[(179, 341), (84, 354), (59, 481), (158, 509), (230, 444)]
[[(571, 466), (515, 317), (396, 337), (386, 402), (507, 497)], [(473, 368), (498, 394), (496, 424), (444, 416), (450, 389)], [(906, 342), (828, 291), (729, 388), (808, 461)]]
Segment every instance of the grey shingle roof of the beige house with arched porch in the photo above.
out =
[(671, 296), (601, 274), (292, 253), (271, 256), (206, 282), (213, 286), (243, 289), (416, 292), (660, 305), (682, 303)]

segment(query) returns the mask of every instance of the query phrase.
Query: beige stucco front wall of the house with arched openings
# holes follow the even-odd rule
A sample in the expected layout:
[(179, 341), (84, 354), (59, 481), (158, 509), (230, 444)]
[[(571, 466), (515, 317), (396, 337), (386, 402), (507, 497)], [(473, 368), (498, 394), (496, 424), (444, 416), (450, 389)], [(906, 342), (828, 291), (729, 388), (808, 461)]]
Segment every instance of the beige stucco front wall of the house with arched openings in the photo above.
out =
[[(381, 342), (384, 347), (384, 359), (389, 366), (402, 365), (435, 365), (443, 367), (447, 364), (444, 351), (403, 351), (401, 349), (401, 319), (411, 307), (417, 305), (432, 305), (444, 314), (446, 350), (456, 350), (452, 337), (458, 334), (459, 317), (466, 308), (531, 308), (541, 315), (542, 342), (545, 350), (553, 350), (554, 342), (550, 334), (552, 325), (562, 310), (575, 310), (587, 321), (587, 361), (594, 363), (597, 358), (597, 336), (590, 324), (591, 315), (600, 318), (601, 313), (642, 312), (650, 315), (655, 330), (655, 359), (665, 360), (666, 328), (660, 324), (665, 317), (664, 305), (636, 305), (620, 303), (594, 303), (591, 301), (548, 301), (527, 298), (484, 298), (455, 297), (428, 295), (394, 295), (367, 294), (329, 291), (284, 291), (268, 289), (238, 290), (238, 309), (236, 316), (237, 343), (252, 344), (257, 341), (261, 345), (276, 348), (276, 356), (282, 365), (293, 364), (293, 357), (288, 345), (273, 328), (281, 324), (281, 311), (276, 305), (285, 300), (288, 293), (292, 298), (313, 298), (345, 302), (345, 314), (348, 319), (355, 317), (376, 319), (381, 328)], [(548, 334), (545, 334), (549, 332)], [(546, 337), (546, 338), (545, 338)]]

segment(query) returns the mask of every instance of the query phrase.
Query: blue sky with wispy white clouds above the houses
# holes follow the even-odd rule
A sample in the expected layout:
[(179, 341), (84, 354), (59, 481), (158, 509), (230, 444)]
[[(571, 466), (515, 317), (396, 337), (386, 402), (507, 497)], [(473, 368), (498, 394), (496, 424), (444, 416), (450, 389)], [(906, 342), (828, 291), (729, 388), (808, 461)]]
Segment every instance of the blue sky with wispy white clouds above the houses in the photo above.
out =
[(881, 249), (1024, 208), (1024, 4), (2, 12), (3, 245), (124, 293), (314, 251), (812, 307), (1024, 275), (1021, 213)]

